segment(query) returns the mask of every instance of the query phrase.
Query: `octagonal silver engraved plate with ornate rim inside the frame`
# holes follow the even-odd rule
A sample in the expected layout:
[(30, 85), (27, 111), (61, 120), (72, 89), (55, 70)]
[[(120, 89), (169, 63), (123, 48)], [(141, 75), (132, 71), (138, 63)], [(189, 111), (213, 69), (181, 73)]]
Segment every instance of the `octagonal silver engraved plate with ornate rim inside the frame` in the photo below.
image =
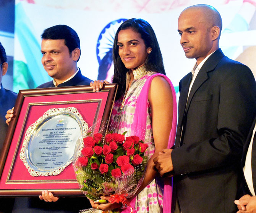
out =
[(58, 175), (72, 162), (76, 141), (87, 129), (75, 107), (49, 109), (27, 129), (20, 159), (32, 176)]

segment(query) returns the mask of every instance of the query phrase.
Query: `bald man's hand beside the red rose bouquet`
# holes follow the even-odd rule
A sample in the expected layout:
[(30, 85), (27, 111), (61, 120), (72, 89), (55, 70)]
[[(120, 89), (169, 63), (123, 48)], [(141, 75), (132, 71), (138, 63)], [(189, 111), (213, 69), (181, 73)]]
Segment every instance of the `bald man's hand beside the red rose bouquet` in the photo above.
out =
[(173, 171), (172, 151), (173, 149), (164, 149), (162, 152), (159, 152), (159, 155), (154, 159), (154, 163), (161, 177), (165, 173)]

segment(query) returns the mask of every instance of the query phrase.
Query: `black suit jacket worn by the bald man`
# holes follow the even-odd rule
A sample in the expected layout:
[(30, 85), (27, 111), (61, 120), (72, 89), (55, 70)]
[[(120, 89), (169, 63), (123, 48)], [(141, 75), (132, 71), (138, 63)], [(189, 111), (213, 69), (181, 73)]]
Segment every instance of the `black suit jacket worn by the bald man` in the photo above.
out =
[(248, 67), (220, 49), (201, 67), (186, 106), (191, 77), (187, 74), (179, 84), (172, 152), (181, 211), (236, 212), (240, 159), (256, 112), (256, 83)]

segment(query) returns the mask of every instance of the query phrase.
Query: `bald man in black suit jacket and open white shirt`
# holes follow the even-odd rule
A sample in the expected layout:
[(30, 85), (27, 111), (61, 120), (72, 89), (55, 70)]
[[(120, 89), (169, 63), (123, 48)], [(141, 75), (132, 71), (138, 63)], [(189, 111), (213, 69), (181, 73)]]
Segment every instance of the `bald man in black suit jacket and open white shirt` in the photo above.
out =
[[(240, 159), (256, 113), (251, 70), (219, 48), (222, 20), (209, 5), (194, 5), (178, 18), (180, 43), (192, 72), (179, 84), (175, 149), (154, 159), (161, 176), (173, 175), (182, 213), (236, 211)], [(174, 191), (175, 193), (175, 191)], [(178, 212), (178, 211), (177, 211)]]

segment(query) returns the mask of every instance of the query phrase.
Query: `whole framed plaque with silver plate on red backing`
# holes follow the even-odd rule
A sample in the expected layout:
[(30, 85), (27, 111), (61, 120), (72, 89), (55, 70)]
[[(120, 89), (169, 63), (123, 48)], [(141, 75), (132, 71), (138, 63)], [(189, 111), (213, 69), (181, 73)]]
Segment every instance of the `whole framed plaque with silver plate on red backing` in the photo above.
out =
[(81, 196), (72, 166), (76, 141), (109, 120), (117, 91), (105, 84), (20, 90), (0, 155), (0, 196)]

